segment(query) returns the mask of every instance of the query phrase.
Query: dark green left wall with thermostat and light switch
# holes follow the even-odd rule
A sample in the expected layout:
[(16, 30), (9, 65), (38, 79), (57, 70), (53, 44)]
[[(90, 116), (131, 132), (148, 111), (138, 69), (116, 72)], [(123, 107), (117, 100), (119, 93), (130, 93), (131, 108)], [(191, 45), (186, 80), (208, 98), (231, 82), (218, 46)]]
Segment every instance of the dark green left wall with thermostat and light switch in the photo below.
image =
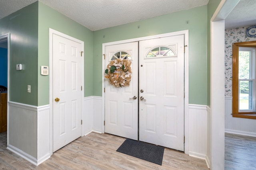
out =
[[(35, 2), (0, 20), (0, 35), (10, 33), (10, 101), (34, 106), (38, 102), (37, 6)], [(16, 64), (22, 64), (23, 70), (16, 70)]]

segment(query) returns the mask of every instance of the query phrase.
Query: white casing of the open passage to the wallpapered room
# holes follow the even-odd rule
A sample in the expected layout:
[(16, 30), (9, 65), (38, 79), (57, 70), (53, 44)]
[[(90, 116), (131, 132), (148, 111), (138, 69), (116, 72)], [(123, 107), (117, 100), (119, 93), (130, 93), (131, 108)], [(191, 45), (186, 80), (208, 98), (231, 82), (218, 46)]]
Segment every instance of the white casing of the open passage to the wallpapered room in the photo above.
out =
[(210, 20), (210, 164), (224, 170), (225, 19), (239, 0), (222, 0)]

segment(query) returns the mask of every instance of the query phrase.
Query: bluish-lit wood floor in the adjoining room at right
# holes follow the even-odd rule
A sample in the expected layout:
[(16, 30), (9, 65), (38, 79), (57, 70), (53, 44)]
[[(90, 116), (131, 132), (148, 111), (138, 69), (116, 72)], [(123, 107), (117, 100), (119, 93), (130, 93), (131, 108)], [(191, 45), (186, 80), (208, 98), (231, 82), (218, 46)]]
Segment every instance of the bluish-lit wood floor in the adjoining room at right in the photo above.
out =
[(256, 170), (256, 137), (225, 133), (225, 170)]

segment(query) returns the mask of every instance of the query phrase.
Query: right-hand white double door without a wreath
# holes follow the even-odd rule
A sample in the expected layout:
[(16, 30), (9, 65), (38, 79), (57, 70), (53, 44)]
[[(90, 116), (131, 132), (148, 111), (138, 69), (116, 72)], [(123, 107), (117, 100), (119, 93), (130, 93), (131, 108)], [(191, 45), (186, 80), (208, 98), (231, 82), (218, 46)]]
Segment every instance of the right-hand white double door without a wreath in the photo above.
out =
[(140, 41), (140, 141), (184, 151), (184, 35)]

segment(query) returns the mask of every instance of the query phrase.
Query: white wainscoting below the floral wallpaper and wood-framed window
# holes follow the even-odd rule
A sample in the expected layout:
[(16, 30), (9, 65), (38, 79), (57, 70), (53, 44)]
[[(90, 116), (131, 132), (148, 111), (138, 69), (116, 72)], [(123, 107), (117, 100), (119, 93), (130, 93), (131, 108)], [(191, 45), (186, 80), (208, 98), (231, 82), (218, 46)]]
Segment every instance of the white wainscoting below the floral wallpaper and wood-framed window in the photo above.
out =
[(232, 97), (225, 97), (225, 132), (256, 137), (255, 119), (232, 117)]

